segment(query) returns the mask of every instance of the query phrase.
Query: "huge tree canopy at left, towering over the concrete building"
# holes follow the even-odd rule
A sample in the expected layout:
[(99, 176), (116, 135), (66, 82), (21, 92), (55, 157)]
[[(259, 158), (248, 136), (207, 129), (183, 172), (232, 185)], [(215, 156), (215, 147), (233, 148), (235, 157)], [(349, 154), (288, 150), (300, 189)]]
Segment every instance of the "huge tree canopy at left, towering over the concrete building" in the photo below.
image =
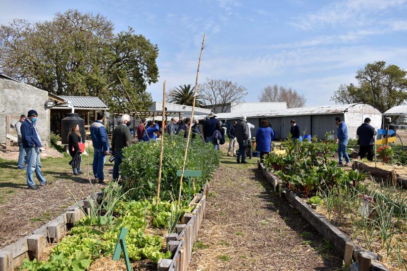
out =
[(157, 45), (130, 27), (114, 35), (104, 16), (74, 9), (0, 26), (1, 73), (56, 95), (99, 96), (112, 112), (132, 110), (118, 76), (138, 110), (150, 106), (157, 56)]

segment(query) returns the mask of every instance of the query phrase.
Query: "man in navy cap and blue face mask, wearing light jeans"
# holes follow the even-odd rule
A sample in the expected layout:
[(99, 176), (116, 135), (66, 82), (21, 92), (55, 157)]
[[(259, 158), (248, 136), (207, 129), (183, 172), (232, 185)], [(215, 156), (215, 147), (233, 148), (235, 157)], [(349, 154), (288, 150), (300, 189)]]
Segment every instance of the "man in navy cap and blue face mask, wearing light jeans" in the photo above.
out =
[(36, 185), (33, 181), (34, 171), (35, 176), (38, 181), (40, 181), (40, 185), (44, 186), (47, 184), (47, 180), (45, 180), (41, 172), (40, 147), (42, 147), (42, 144), (36, 126), (37, 120), (37, 111), (30, 110), (28, 111), (27, 118), (21, 124), (21, 140), (25, 153), (27, 154), (27, 185), (29, 189), (34, 190), (40, 189), (40, 186)]

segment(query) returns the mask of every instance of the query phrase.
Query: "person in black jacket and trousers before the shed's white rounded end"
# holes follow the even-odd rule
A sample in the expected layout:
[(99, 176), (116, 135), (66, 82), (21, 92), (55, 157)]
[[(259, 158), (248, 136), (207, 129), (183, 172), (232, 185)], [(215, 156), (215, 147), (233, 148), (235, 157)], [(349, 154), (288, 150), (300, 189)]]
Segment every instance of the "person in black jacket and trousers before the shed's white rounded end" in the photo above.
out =
[(364, 155), (367, 153), (367, 160), (373, 161), (373, 144), (375, 140), (374, 134), (374, 128), (370, 126), (370, 119), (365, 118), (364, 123), (356, 130), (356, 135), (358, 137), (357, 142), (359, 143), (360, 159), (363, 159)]

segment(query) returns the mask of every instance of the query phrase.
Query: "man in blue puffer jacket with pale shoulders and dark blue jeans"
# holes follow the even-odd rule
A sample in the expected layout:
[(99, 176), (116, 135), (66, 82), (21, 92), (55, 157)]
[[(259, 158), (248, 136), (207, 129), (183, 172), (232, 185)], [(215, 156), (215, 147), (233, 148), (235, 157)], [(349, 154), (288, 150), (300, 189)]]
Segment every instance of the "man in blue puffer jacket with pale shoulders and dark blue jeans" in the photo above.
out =
[(95, 179), (98, 179), (99, 182), (104, 181), (103, 166), (104, 161), (106, 161), (106, 155), (109, 153), (109, 140), (107, 139), (107, 131), (104, 128), (103, 119), (103, 112), (99, 112), (96, 115), (96, 121), (90, 127), (94, 148), (93, 175), (95, 175)]

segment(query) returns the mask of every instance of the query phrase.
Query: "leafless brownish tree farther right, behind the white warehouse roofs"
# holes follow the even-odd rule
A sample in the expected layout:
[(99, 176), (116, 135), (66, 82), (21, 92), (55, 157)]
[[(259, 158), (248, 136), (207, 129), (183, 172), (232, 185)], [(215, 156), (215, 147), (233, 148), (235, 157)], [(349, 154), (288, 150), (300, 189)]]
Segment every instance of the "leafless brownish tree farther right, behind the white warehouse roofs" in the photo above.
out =
[(277, 84), (267, 86), (258, 96), (260, 102), (286, 102), (287, 108), (304, 107), (305, 96), (300, 95), (297, 90), (291, 88), (278, 87)]

